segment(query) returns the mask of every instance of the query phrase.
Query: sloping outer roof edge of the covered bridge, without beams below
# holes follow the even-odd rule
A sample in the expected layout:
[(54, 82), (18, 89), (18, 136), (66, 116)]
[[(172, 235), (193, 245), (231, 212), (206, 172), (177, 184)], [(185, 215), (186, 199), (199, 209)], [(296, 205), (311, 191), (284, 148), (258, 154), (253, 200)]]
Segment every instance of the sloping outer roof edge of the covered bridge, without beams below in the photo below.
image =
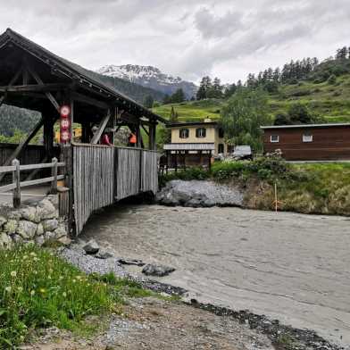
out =
[(128, 96), (125, 96), (116, 88), (104, 83), (104, 81), (100, 79), (98, 74), (94, 71), (88, 71), (87, 69), (79, 66), (79, 64), (72, 63), (63, 57), (53, 54), (45, 47), (37, 45), (27, 37), (21, 36), (21, 34), (12, 29), (6, 29), (6, 31), (0, 35), (0, 50), (9, 43), (20, 46), (22, 49), (29, 52), (29, 54), (33, 54), (37, 57), (37, 59), (49, 65), (53, 71), (63, 73), (63, 75), (73, 79), (77, 84), (81, 86), (86, 85), (87, 87), (94, 87), (98, 92), (103, 92), (107, 96), (115, 97), (119, 103), (126, 104), (129, 106), (129, 108), (137, 111), (141, 116), (162, 121), (163, 123), (168, 122), (158, 114), (155, 114)]

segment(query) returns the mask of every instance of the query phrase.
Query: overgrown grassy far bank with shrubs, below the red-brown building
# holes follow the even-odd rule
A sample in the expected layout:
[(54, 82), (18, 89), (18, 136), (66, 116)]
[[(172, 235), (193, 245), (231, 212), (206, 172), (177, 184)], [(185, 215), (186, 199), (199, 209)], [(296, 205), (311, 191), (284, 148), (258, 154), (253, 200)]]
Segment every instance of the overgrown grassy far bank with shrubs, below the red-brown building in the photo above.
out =
[(274, 209), (275, 184), (279, 210), (350, 215), (350, 163), (284, 162), (279, 157), (260, 157), (254, 162), (215, 162), (212, 171), (198, 168), (164, 175), (171, 179), (213, 179), (244, 187), (246, 207)]

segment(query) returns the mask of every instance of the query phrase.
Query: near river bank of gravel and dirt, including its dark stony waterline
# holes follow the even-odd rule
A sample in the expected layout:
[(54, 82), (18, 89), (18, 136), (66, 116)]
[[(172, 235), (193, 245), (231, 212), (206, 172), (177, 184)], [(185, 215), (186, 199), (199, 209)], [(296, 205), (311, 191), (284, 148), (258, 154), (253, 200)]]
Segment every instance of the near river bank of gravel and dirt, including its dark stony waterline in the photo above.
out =
[[(86, 243), (78, 242), (59, 250), (63, 259), (87, 273), (112, 271), (117, 277), (137, 280), (148, 289), (166, 292), (167, 296), (147, 296), (145, 292), (145, 296), (129, 298), (126, 304), (120, 305), (118, 313), (88, 317), (88, 328), (94, 329), (88, 336), (67, 330), (43, 329), (38, 337), (33, 337), (31, 344), (21, 346), (21, 349), (340, 349), (311, 330), (293, 329), (248, 311), (236, 312), (198, 303), (189, 299), (183, 288), (125, 271), (121, 261), (130, 262), (129, 259), (117, 258), (112, 254), (111, 246), (107, 250), (100, 248), (109, 254), (106, 259), (101, 259), (97, 252), (85, 254), (82, 246)], [(182, 301), (169, 299), (169, 295), (182, 296)]]

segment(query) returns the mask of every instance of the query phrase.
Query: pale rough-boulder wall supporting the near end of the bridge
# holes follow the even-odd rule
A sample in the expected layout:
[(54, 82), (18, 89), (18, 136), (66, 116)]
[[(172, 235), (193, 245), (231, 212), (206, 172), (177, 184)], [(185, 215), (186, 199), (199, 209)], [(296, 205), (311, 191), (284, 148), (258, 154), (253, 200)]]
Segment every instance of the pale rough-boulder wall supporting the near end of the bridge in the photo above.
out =
[(55, 197), (47, 196), (39, 202), (13, 209), (9, 204), (0, 206), (0, 248), (14, 244), (47, 242), (69, 244), (66, 223), (59, 217)]

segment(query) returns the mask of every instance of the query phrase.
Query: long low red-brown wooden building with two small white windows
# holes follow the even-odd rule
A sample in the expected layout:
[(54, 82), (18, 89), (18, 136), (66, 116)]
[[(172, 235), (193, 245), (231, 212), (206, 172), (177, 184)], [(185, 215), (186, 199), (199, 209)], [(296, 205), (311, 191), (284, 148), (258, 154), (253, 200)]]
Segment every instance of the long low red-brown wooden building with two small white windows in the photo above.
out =
[(266, 126), (263, 150), (287, 161), (350, 160), (350, 123)]

